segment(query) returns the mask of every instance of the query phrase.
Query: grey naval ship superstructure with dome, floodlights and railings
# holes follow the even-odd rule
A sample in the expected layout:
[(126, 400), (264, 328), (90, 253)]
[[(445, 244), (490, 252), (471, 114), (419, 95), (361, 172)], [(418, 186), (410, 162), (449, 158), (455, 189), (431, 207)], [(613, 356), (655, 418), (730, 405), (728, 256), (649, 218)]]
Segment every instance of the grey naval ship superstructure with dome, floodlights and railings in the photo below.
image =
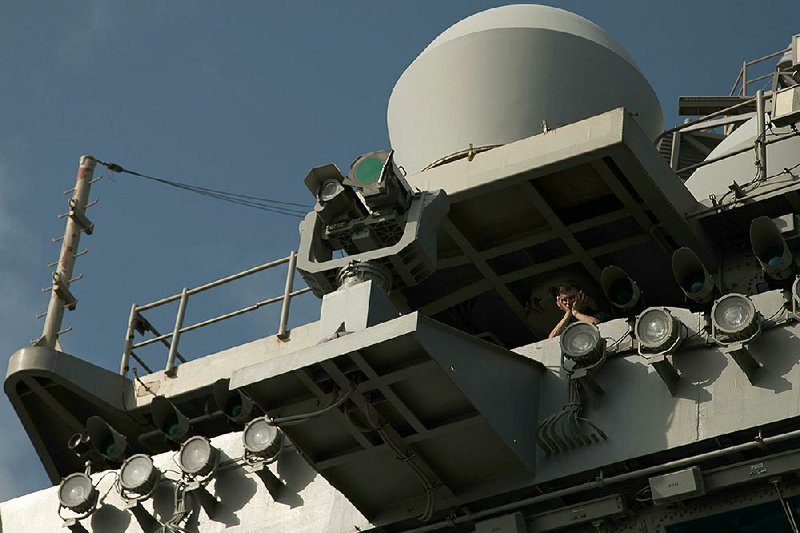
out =
[[(118, 371), (58, 340), (95, 168), (124, 171), (82, 157), (42, 337), (5, 380), (54, 487), (0, 504), (0, 530), (798, 531), (787, 37), (664, 129), (591, 22), (469, 17), (397, 82), (391, 149), (308, 173), (298, 249), (132, 305)], [(186, 323), (193, 295), (272, 268), (282, 293)], [(545, 339), (565, 280), (610, 319)], [(305, 293), (320, 319), (289, 328)], [(271, 304), (275, 335), (182, 352)]]

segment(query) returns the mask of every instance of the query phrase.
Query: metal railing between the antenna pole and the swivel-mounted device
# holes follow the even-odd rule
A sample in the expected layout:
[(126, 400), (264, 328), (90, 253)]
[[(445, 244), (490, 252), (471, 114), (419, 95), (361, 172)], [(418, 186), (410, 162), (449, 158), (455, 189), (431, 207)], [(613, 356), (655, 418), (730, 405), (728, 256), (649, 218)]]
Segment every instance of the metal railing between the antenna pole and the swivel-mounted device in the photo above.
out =
[[(215, 287), (219, 287), (220, 285), (224, 285), (226, 283), (230, 283), (232, 281), (236, 281), (238, 279), (242, 279), (244, 277), (250, 276), (252, 274), (256, 274), (258, 272), (262, 272), (264, 270), (268, 270), (270, 268), (275, 268), (277, 266), (287, 264), (287, 273), (286, 273), (286, 285), (284, 287), (283, 294), (280, 296), (275, 296), (273, 298), (269, 298), (267, 300), (262, 300), (260, 302), (256, 302), (253, 305), (248, 307), (244, 307), (242, 309), (231, 311), (230, 313), (225, 313), (223, 315), (216, 316), (214, 318), (209, 318), (208, 320), (203, 320), (202, 322), (197, 322), (196, 324), (192, 324), (189, 326), (183, 325), (184, 317), (186, 316), (186, 306), (189, 302), (189, 296), (194, 294), (198, 294), (209, 289), (213, 289)], [(175, 294), (169, 296), (167, 298), (162, 298), (161, 300), (157, 300), (155, 302), (151, 302), (145, 305), (136, 305), (135, 303), (131, 305), (131, 313), (128, 318), (128, 329), (125, 334), (125, 348), (122, 352), (122, 361), (120, 362), (120, 374), (125, 376), (128, 374), (129, 370), (129, 362), (130, 359), (133, 358), (139, 366), (141, 366), (145, 371), (148, 373), (152, 373), (153, 370), (142, 360), (139, 355), (137, 355), (134, 350), (137, 348), (142, 348), (148, 346), (150, 344), (161, 343), (169, 349), (169, 354), (167, 356), (167, 363), (164, 367), (164, 372), (168, 376), (174, 376), (175, 374), (175, 360), (178, 359), (179, 361), (185, 363), (186, 359), (178, 352), (178, 344), (180, 342), (181, 335), (183, 333), (187, 333), (189, 331), (193, 331), (205, 326), (209, 326), (211, 324), (215, 324), (217, 322), (221, 322), (223, 320), (227, 320), (229, 318), (233, 318), (236, 316), (243, 315), (245, 313), (249, 313), (251, 311), (255, 311), (256, 309), (260, 309), (264, 306), (281, 302), (281, 315), (280, 315), (280, 322), (278, 324), (278, 331), (277, 336), (280, 340), (288, 340), (289, 338), (289, 330), (288, 330), (288, 321), (289, 321), (289, 307), (291, 304), (292, 298), (295, 296), (300, 296), (301, 294), (305, 294), (311, 291), (310, 288), (306, 287), (299, 290), (292, 290), (294, 285), (294, 274), (297, 267), (297, 252), (292, 251), (287, 257), (282, 259), (278, 259), (276, 261), (270, 261), (269, 263), (264, 263), (262, 265), (255, 266), (253, 268), (249, 268), (237, 274), (233, 274), (231, 276), (227, 276), (225, 278), (218, 279), (216, 281), (212, 281), (211, 283), (206, 283), (205, 285), (200, 285), (199, 287), (195, 287), (193, 289), (183, 289), (180, 294)], [(175, 326), (170, 333), (161, 334), (156, 330), (153, 325), (142, 316), (142, 312), (148, 311), (150, 309), (155, 309), (156, 307), (161, 307), (163, 305), (178, 302), (178, 312), (175, 317)], [(144, 335), (148, 332), (153, 333), (155, 336), (150, 337), (148, 339), (134, 342), (134, 335), (136, 333)]]

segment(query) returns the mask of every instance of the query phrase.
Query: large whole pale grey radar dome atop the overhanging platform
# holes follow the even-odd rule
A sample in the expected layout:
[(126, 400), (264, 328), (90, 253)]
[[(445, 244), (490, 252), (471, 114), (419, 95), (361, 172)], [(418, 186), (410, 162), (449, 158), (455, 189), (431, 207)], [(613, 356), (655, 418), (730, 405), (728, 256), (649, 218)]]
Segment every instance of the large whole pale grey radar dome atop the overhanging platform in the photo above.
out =
[(605, 30), (523, 4), (468, 17), (428, 45), (389, 97), (395, 160), (409, 174), (448, 155), (505, 144), (625, 106), (651, 139), (653, 88)]

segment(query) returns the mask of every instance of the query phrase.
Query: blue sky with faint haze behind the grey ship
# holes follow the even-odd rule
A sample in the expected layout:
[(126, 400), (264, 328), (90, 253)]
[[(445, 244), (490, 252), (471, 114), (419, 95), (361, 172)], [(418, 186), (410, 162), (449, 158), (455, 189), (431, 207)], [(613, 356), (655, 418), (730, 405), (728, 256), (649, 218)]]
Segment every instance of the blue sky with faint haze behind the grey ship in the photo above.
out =
[[(386, 103), (414, 57), (458, 20), (504, 2), (183, 1), (0, 4), (0, 367), (41, 333), (56, 214), (78, 157), (206, 187), (311, 203), (312, 166), (346, 169), (388, 146)], [(673, 125), (679, 95), (727, 94), (741, 62), (800, 32), (796, 0), (544, 2), (599, 24), (625, 47)], [(724, 7), (720, 7), (724, 6)], [(580, 68), (579, 64), (575, 68)], [(564, 80), (569, 83), (570, 80)], [(589, 89), (589, 88), (587, 88)], [(65, 351), (116, 370), (130, 304), (285, 256), (297, 219), (124, 175), (98, 182), (73, 286)], [(279, 276), (190, 306), (202, 319), (273, 296)], [(294, 322), (316, 319), (313, 297)], [(174, 313), (174, 310), (172, 311)], [(194, 313), (194, 314), (193, 314)], [(158, 324), (168, 330), (173, 318)], [(200, 355), (272, 334), (274, 311), (211, 337)], [(232, 328), (232, 329), (231, 329)], [(198, 340), (202, 339), (202, 340)], [(182, 346), (184, 346), (182, 344)], [(150, 360), (163, 364), (163, 353)], [(156, 362), (157, 361), (157, 362)], [(0, 395), (0, 501), (48, 480)]]

